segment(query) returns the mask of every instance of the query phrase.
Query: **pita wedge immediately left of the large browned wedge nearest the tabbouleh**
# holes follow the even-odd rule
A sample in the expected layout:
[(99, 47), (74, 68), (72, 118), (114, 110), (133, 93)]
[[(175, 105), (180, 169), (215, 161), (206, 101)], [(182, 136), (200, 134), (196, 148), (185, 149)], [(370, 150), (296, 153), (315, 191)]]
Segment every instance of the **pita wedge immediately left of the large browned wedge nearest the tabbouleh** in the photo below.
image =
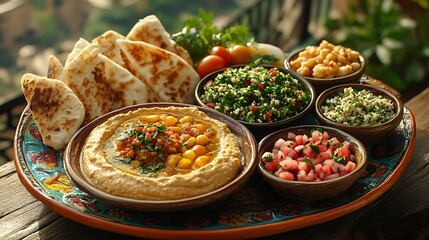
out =
[(105, 64), (105, 71), (102, 75), (110, 88), (113, 109), (148, 101), (147, 86), (140, 79), (103, 54), (100, 54), (99, 57)]

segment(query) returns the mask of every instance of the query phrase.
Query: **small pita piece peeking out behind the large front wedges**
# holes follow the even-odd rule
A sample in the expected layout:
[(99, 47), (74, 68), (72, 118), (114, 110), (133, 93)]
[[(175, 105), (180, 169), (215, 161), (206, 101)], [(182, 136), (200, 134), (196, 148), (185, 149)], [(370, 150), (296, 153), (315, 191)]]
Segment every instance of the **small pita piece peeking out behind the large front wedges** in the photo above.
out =
[(101, 52), (106, 57), (119, 64), (120, 66), (126, 67), (125, 62), (121, 56), (121, 50), (119, 49), (118, 44), (116, 44), (117, 39), (125, 39), (125, 36), (122, 36), (115, 31), (109, 30), (102, 35), (94, 38), (92, 42), (98, 42)]

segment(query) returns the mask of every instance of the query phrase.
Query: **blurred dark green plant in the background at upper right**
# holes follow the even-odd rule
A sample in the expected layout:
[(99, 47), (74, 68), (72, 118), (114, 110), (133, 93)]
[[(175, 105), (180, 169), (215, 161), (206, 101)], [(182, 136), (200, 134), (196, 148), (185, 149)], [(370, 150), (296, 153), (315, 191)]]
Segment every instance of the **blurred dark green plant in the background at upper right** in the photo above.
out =
[[(429, 7), (429, 0), (418, 2)], [(358, 50), (366, 60), (366, 73), (399, 91), (429, 75), (427, 12), (405, 17), (395, 0), (348, 4), (349, 11), (325, 25), (327, 39)]]

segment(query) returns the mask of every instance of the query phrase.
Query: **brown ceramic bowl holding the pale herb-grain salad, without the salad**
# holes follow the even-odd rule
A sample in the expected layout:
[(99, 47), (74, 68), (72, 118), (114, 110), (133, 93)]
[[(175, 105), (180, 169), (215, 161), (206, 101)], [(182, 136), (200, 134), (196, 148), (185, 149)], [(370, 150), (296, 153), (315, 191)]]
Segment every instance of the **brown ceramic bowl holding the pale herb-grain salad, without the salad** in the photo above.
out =
[[(327, 118), (322, 111), (322, 105), (325, 101), (332, 97), (339, 91), (343, 91), (344, 88), (352, 87), (354, 89), (365, 89), (372, 92), (375, 95), (383, 95), (390, 99), (395, 108), (395, 115), (389, 121), (383, 124), (377, 124), (373, 126), (350, 126), (346, 124), (336, 123), (331, 119)], [(325, 126), (330, 126), (334, 128), (341, 129), (357, 139), (363, 142), (366, 146), (374, 145), (383, 140), (389, 133), (393, 132), (393, 130), (398, 126), (398, 124), (402, 121), (403, 118), (403, 104), (402, 101), (393, 95), (391, 92), (374, 86), (367, 84), (343, 84), (336, 87), (332, 87), (330, 89), (322, 92), (316, 100), (315, 104), (315, 115), (317, 121)]]

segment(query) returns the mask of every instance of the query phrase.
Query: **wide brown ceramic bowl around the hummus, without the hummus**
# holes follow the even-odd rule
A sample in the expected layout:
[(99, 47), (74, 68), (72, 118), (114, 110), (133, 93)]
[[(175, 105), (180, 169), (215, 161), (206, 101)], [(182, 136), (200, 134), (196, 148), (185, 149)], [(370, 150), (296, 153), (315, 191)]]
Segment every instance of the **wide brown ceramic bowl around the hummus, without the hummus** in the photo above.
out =
[(110, 117), (120, 113), (126, 113), (128, 111), (134, 111), (140, 108), (168, 106), (189, 107), (193, 105), (178, 103), (147, 103), (134, 105), (110, 112), (102, 117), (95, 119), (88, 125), (81, 128), (71, 139), (64, 152), (65, 170), (66, 173), (69, 175), (70, 179), (79, 187), (79, 189), (99, 200), (102, 200), (103, 202), (110, 203), (114, 206), (150, 212), (179, 211), (190, 208), (197, 208), (225, 198), (237, 189), (241, 188), (250, 179), (256, 169), (257, 142), (253, 135), (250, 133), (250, 131), (239, 122), (212, 109), (202, 107), (198, 107), (199, 110), (205, 112), (209, 117), (226, 123), (231, 132), (237, 137), (240, 143), (240, 148), (242, 152), (242, 166), (236, 178), (233, 179), (231, 182), (221, 188), (218, 188), (212, 192), (203, 195), (184, 199), (162, 201), (136, 200), (131, 198), (119, 197), (103, 192), (90, 183), (90, 181), (85, 177), (83, 170), (80, 166), (79, 156), (84, 146), (85, 140), (93, 128), (105, 122)]

